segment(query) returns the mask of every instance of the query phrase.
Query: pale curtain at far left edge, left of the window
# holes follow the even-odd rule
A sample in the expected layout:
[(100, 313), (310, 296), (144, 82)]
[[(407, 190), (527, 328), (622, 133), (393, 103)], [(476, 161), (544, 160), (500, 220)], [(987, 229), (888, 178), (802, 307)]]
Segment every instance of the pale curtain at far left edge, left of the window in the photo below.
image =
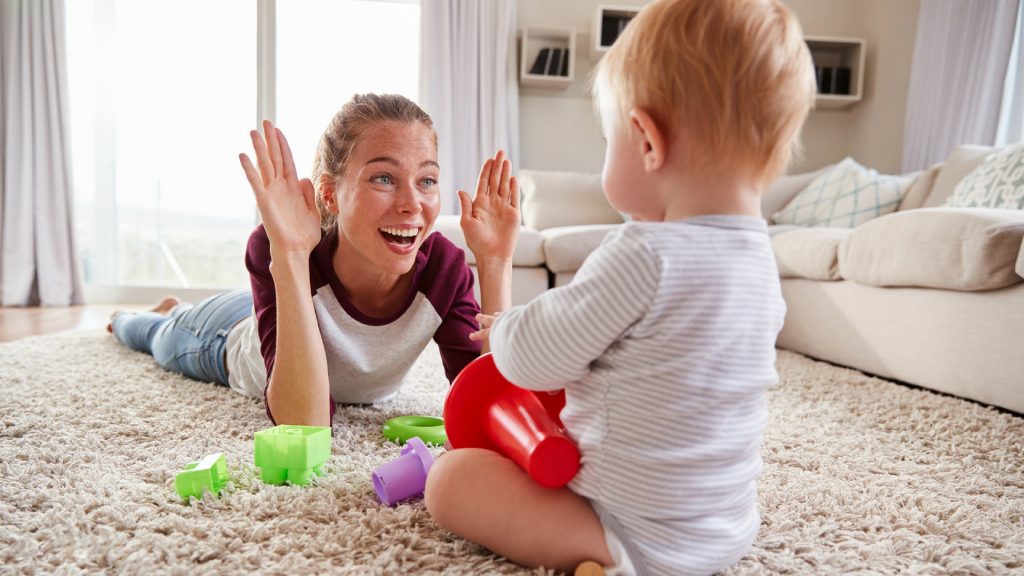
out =
[(0, 305), (82, 303), (63, 0), (2, 0), (0, 42)]

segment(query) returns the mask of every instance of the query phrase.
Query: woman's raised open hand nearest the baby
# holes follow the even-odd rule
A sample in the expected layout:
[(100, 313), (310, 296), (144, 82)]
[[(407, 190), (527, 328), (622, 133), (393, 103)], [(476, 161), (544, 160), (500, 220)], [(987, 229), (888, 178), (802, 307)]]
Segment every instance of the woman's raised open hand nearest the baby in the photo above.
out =
[(459, 191), (462, 232), (476, 260), (511, 260), (519, 236), (519, 182), (512, 163), (498, 151), (480, 168), (476, 196)]

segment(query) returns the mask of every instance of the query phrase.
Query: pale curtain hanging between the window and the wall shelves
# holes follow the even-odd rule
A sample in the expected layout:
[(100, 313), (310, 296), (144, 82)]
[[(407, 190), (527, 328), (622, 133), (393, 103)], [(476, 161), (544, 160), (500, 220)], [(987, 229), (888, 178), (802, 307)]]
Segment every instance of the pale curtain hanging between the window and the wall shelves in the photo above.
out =
[(430, 0), (421, 14), (420, 105), (434, 120), (441, 165), (441, 213), (459, 212), (484, 159), (518, 158), (514, 0)]

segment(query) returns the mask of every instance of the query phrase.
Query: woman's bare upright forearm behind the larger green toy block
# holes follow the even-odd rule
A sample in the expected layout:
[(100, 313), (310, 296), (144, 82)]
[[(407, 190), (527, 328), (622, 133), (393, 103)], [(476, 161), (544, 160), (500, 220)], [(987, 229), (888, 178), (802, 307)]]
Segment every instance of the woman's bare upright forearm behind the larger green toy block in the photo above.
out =
[(331, 425), (327, 354), (310, 297), (309, 255), (272, 254), (278, 338), (267, 404), (279, 424)]

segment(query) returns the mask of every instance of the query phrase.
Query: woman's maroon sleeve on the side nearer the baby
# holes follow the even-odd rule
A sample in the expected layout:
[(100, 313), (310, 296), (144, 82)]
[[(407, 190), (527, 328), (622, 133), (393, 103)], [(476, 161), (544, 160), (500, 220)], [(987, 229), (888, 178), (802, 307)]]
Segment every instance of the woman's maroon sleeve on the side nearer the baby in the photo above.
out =
[(480, 342), (469, 339), (470, 333), (479, 330), (476, 315), (480, 304), (473, 294), (473, 271), (466, 263), (462, 249), (440, 233), (434, 233), (428, 242), (430, 253), (421, 291), (441, 317), (434, 341), (440, 348), (444, 375), (451, 382), (480, 356)]

